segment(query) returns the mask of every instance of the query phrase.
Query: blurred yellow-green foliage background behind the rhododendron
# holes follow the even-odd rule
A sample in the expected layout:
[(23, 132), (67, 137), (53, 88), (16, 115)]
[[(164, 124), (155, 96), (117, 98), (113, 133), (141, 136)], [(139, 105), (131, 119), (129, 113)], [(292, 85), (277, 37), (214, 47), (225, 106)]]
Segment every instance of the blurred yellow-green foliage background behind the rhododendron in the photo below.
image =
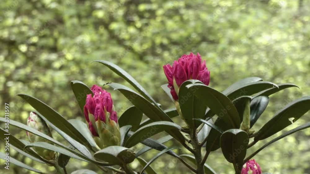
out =
[[(290, 101), (310, 95), (309, 12), (310, 0), (2, 0), (1, 113), (4, 103), (9, 103), (11, 120), (26, 124), (33, 108), (15, 96), (25, 93), (44, 101), (66, 119), (83, 120), (71, 80), (88, 86), (107, 82), (128, 85), (105, 66), (91, 63), (100, 59), (121, 66), (163, 108), (171, 108), (173, 103), (160, 88), (166, 83), (162, 66), (184, 53), (199, 52), (211, 72), (210, 86), (217, 90), (251, 76), (300, 87), (272, 95), (254, 127), (257, 130)], [(117, 91), (107, 90), (120, 116), (131, 103)], [(308, 121), (309, 112), (286, 131)], [(24, 131), (13, 126), (10, 131), (27, 140)], [(53, 136), (63, 142), (54, 131)], [(255, 159), (263, 172), (310, 174), (309, 137), (310, 129), (295, 133), (264, 149)], [(248, 154), (272, 138), (259, 142)], [(0, 144), (4, 151), (3, 142)], [(166, 145), (178, 144), (171, 141)], [(149, 160), (156, 153), (150, 151), (143, 157)], [(13, 149), (10, 154), (39, 170), (53, 171)], [(1, 160), (4, 167), (3, 163)], [(234, 173), (220, 149), (211, 153), (207, 164), (219, 174)], [(190, 173), (169, 155), (151, 166), (159, 173)], [(10, 170), (3, 167), (0, 173), (33, 173), (13, 164)], [(132, 167), (141, 168), (137, 161)], [(101, 173), (96, 166), (75, 159), (70, 160), (67, 171), (81, 168)]]

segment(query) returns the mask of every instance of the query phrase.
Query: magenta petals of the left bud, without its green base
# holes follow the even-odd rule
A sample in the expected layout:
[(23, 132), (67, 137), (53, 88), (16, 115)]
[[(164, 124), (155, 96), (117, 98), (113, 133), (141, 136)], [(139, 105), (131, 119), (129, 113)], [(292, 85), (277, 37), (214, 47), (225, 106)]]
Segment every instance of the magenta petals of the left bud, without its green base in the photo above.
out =
[[(89, 115), (92, 114), (95, 117), (95, 121), (101, 120), (106, 123), (106, 117), (109, 117), (110, 120), (113, 120), (117, 123), (117, 113), (113, 111), (113, 101), (111, 94), (97, 85), (91, 87), (91, 91), (94, 93), (94, 96), (91, 94), (87, 95), (86, 104), (84, 106), (84, 116), (88, 123), (89, 130), (93, 136), (99, 136), (93, 127), (91, 121), (89, 120)], [(105, 112), (108, 112), (110, 116), (106, 116)]]

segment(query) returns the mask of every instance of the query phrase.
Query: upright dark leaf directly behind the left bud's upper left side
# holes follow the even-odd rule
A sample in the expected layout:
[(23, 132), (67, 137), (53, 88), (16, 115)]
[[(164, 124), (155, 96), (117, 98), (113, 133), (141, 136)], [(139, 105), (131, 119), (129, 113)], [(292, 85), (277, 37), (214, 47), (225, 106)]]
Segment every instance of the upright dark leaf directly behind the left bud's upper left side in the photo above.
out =
[(75, 95), (75, 98), (78, 101), (78, 104), (81, 108), (82, 113), (84, 114), (84, 106), (86, 104), (86, 96), (87, 94), (94, 95), (91, 89), (87, 85), (85, 85), (83, 82), (80, 82), (78, 80), (71, 81), (71, 88)]

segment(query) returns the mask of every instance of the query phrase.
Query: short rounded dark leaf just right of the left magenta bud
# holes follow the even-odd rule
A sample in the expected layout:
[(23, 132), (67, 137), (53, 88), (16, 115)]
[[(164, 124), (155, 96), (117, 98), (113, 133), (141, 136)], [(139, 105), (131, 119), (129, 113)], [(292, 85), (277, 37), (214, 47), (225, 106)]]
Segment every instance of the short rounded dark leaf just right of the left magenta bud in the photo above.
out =
[(125, 125), (131, 125), (132, 131), (139, 129), (140, 122), (142, 120), (143, 112), (141, 112), (137, 107), (131, 106), (126, 109), (122, 116), (118, 119), (120, 127)]

